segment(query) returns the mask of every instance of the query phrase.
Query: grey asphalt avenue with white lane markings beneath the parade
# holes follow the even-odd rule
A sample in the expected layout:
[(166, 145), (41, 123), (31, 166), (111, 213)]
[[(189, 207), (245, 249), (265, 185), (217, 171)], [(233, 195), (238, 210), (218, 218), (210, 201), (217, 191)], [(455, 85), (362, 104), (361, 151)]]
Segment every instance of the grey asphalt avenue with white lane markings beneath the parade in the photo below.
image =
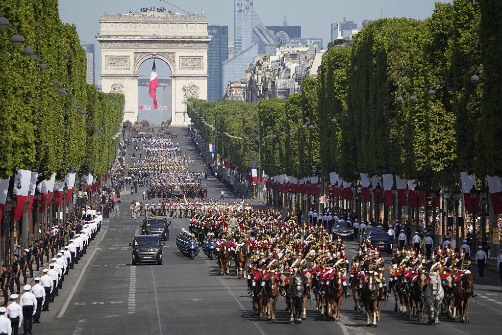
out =
[[(177, 141), (190, 156), (197, 157), (189, 147), (185, 131), (179, 129)], [(194, 168), (201, 169), (197, 161)], [(208, 196), (217, 197), (221, 187), (214, 180), (207, 181)], [(123, 204), (138, 196), (124, 194)], [(229, 196), (228, 201), (237, 200)], [(488, 272), (485, 279), (476, 279), (478, 305), (471, 304), (469, 324), (447, 321), (438, 326), (427, 326), (394, 312), (394, 299), (382, 310), (382, 321), (377, 328), (365, 326), (365, 315), (353, 311), (353, 301), (342, 306), (342, 321), (326, 321), (315, 311), (315, 301), (307, 303), (307, 320), (301, 325), (289, 324), (280, 298), (276, 322), (259, 320), (254, 316), (246, 283), (234, 276), (220, 277), (217, 264), (203, 253), (190, 260), (178, 252), (176, 234), (188, 227), (188, 219), (173, 219), (171, 238), (164, 247), (164, 265), (131, 266), (129, 243), (139, 231), (141, 219), (132, 219), (129, 208), (123, 205), (119, 218), (103, 222), (100, 235), (89, 248), (79, 266), (65, 280), (65, 289), (44, 312), (42, 323), (35, 333), (44, 334), (296, 334), (296, 333), (352, 333), (388, 334), (403, 331), (429, 333), (474, 333), (499, 331), (495, 317), (502, 305), (502, 288), (497, 275)], [(349, 258), (357, 249), (348, 243)], [(386, 259), (389, 257), (386, 256)], [(83, 264), (82, 264), (83, 263)], [(234, 270), (232, 269), (232, 272)], [(76, 283), (78, 281), (78, 283)], [(350, 298), (351, 299), (351, 298)]]

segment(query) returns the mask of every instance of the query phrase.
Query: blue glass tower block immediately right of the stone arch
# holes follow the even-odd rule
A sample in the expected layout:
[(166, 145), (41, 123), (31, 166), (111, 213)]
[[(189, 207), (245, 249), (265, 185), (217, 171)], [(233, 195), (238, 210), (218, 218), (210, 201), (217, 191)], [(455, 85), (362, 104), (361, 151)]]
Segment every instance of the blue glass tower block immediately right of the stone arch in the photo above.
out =
[(207, 46), (207, 100), (216, 101), (223, 96), (222, 64), (228, 59), (228, 26), (207, 26), (212, 36)]

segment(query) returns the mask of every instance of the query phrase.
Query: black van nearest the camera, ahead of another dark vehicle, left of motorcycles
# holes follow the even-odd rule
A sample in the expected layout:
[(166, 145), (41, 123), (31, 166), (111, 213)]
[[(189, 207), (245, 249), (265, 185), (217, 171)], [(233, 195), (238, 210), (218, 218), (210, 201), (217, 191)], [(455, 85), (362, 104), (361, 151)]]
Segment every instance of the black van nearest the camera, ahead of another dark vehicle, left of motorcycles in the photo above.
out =
[(140, 235), (136, 236), (133, 243), (129, 246), (133, 247), (131, 255), (131, 263), (133, 265), (141, 263), (157, 263), (162, 265), (162, 246), (164, 242), (160, 242), (157, 235)]

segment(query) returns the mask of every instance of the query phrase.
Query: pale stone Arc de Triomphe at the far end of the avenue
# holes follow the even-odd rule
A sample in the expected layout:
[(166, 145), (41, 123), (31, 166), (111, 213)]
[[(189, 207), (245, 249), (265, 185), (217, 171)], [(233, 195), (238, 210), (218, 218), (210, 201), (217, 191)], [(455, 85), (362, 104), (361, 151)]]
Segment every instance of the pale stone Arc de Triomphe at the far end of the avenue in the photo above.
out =
[(102, 90), (124, 93), (124, 121), (138, 119), (140, 65), (158, 58), (171, 68), (171, 124), (190, 123), (187, 98), (207, 99), (207, 44), (211, 41), (207, 17), (141, 12), (103, 15), (99, 23), (96, 39), (101, 45)]

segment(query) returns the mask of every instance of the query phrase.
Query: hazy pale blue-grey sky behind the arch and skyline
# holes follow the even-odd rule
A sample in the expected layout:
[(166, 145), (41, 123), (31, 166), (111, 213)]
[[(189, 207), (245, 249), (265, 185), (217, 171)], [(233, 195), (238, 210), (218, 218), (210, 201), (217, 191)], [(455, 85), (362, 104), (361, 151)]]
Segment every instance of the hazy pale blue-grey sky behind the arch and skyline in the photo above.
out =
[[(233, 40), (233, 0), (168, 0), (169, 3), (190, 13), (204, 11), (211, 25), (228, 26), (228, 38)], [(449, 2), (442, 0), (441, 2)], [(254, 0), (255, 11), (263, 23), (268, 26), (282, 25), (286, 14), (288, 24), (302, 26), (302, 37), (324, 39), (324, 46), (330, 40), (330, 24), (342, 21), (354, 21), (360, 27), (362, 20), (383, 17), (409, 17), (425, 19), (431, 16), (436, 0)], [(60, 0), (61, 20), (75, 24), (81, 41), (96, 44), (96, 83), (100, 74), (101, 62), (99, 44), (95, 35), (99, 32), (99, 16), (129, 13), (142, 7), (165, 7), (173, 12), (182, 11), (159, 0)], [(143, 64), (140, 75), (150, 75), (151, 62)], [(170, 74), (167, 64), (159, 62), (159, 76)], [(157, 93), (159, 95), (159, 93)], [(140, 104), (147, 104), (145, 94), (140, 94)], [(145, 99), (145, 100), (144, 100)], [(143, 102), (144, 101), (144, 102)]]

